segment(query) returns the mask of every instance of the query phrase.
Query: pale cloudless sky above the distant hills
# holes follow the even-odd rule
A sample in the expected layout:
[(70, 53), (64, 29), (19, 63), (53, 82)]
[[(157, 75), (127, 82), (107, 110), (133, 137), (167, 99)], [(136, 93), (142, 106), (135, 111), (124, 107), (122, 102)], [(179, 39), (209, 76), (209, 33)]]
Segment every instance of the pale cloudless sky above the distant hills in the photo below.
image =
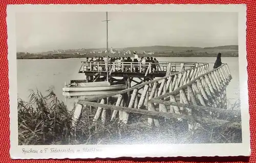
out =
[[(238, 45), (238, 14), (109, 12), (109, 47)], [(105, 48), (105, 12), (16, 14), (17, 51)]]

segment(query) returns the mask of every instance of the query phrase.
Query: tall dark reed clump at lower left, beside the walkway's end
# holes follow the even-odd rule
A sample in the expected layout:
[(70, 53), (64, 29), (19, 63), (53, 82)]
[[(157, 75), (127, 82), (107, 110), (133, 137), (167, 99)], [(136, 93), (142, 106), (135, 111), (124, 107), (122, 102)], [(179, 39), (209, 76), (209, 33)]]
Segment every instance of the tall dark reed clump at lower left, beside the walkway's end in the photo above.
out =
[(29, 102), (18, 99), (19, 145), (69, 144), (72, 135), (72, 112), (52, 90), (43, 96), (32, 91)]

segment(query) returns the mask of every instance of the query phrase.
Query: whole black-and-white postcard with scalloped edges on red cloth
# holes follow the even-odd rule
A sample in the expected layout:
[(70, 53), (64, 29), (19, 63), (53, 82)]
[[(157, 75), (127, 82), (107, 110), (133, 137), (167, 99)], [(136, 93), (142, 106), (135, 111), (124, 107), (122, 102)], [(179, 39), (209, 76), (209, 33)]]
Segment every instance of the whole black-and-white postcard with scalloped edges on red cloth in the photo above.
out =
[(12, 5), (7, 22), (12, 158), (250, 154), (246, 6)]

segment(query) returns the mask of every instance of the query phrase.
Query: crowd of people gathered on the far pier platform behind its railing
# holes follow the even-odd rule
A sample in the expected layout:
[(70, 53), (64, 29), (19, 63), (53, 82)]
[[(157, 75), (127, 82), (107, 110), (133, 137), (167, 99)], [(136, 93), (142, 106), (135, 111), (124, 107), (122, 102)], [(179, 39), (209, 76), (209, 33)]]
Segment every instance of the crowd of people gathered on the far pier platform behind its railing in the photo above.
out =
[[(115, 69), (117, 71), (120, 71), (122, 67), (125, 69), (126, 72), (144, 72), (151, 63), (151, 71), (155, 72), (159, 69), (159, 63), (156, 58), (153, 57), (141, 57), (139, 58), (138, 55), (134, 52), (134, 58), (131, 57), (109, 57), (109, 58), (103, 58), (103, 57), (95, 57), (95, 58), (88, 58), (86, 59), (87, 62), (102, 62), (102, 66), (100, 66), (101, 70), (105, 70), (106, 62), (108, 61), (109, 64), (115, 63)], [(123, 63), (123, 66), (121, 65)], [(132, 67), (130, 64), (132, 63)], [(94, 66), (94, 70), (96, 70), (96, 66)]]

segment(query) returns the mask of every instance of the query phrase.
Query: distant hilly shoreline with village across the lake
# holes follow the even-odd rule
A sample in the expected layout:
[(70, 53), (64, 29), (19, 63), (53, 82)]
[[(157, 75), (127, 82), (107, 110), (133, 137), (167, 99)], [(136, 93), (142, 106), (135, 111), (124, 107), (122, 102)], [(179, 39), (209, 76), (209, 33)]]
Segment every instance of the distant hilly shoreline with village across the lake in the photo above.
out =
[[(222, 57), (238, 57), (238, 46), (218, 47), (178, 47), (178, 46), (144, 46), (127, 47), (110, 50), (110, 57), (134, 57), (135, 51), (139, 57), (216, 57), (221, 52)], [(87, 57), (106, 57), (103, 48), (54, 50), (41, 53), (17, 52), (16, 58), (22, 59), (70, 59)]]

